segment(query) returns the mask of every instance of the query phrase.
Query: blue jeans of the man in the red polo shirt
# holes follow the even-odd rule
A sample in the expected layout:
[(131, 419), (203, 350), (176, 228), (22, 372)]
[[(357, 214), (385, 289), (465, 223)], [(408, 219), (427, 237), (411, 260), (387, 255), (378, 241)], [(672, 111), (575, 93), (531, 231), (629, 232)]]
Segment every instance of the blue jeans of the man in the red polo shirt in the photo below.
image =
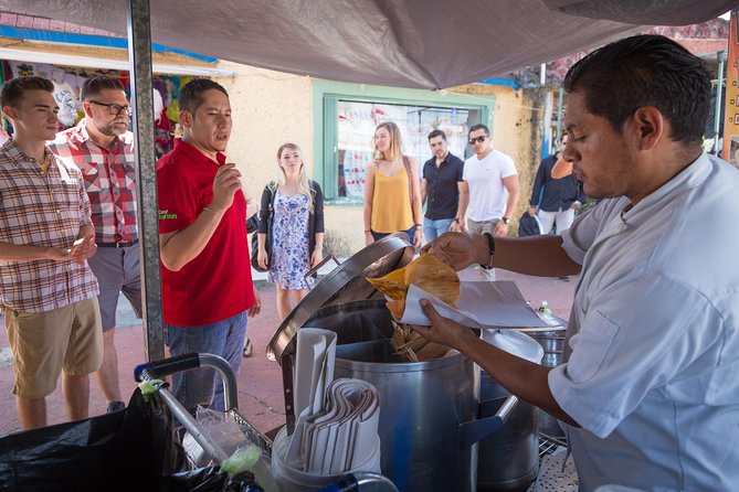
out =
[[(220, 355), (229, 361), (237, 375), (249, 311), (210, 324), (199, 327), (176, 327), (165, 324), (169, 353), (172, 356), (191, 352)], [(214, 368), (200, 367), (172, 375), (172, 395), (194, 415), (198, 406), (225, 411), (222, 378)], [(237, 402), (232, 402), (236, 405)]]

